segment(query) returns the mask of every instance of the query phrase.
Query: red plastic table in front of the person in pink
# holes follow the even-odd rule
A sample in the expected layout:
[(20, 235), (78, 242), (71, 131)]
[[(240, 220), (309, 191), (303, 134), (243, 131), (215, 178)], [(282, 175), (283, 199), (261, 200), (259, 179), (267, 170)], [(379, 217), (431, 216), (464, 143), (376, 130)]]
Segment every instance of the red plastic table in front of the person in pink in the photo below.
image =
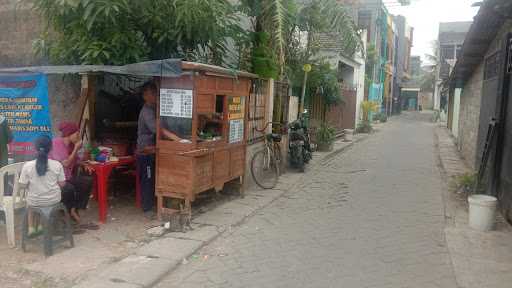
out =
[[(105, 223), (107, 220), (107, 210), (108, 210), (108, 178), (110, 177), (110, 173), (113, 169), (121, 166), (130, 166), (135, 164), (135, 157), (126, 156), (119, 157), (119, 161), (111, 161), (105, 163), (98, 162), (88, 162), (86, 165), (92, 167), (94, 170), (95, 177), (95, 198), (98, 201), (98, 214), (99, 214), (99, 222)], [(135, 175), (136, 178), (136, 201), (137, 205), (140, 206), (140, 191), (139, 191), (139, 177)]]

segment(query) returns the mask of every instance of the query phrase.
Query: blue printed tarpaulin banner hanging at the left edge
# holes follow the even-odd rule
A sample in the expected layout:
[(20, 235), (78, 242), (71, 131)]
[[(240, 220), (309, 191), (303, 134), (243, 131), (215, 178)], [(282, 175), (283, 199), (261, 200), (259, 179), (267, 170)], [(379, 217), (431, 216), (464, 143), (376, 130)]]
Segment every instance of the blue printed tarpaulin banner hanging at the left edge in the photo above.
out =
[(51, 137), (52, 131), (46, 75), (0, 74), (0, 115), (14, 135), (11, 151), (34, 154), (34, 140), (40, 135)]

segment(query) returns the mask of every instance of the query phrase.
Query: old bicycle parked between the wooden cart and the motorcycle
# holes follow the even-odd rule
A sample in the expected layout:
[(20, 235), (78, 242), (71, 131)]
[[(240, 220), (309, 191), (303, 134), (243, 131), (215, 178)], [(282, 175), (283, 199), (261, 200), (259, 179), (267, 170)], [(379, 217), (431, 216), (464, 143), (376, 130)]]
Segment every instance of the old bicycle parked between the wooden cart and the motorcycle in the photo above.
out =
[[(256, 131), (265, 133), (268, 122), (263, 129), (254, 128)], [(281, 165), (281, 134), (270, 133), (264, 136), (265, 147), (256, 152), (251, 159), (251, 174), (254, 182), (263, 189), (272, 189), (277, 185), (279, 179), (279, 167)]]

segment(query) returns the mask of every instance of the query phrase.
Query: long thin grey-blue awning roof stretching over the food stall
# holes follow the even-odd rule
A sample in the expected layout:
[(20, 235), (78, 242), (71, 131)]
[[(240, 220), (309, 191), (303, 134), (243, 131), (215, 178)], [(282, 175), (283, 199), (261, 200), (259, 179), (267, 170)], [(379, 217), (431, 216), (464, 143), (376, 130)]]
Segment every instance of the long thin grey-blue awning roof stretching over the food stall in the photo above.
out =
[(178, 77), (185, 71), (207, 71), (231, 76), (257, 78), (252, 73), (227, 69), (202, 63), (186, 62), (180, 59), (164, 59), (146, 61), (124, 66), (110, 65), (64, 65), (64, 66), (32, 66), (19, 68), (0, 68), (0, 73), (45, 73), (45, 74), (78, 74), (78, 73), (111, 73), (135, 76)]

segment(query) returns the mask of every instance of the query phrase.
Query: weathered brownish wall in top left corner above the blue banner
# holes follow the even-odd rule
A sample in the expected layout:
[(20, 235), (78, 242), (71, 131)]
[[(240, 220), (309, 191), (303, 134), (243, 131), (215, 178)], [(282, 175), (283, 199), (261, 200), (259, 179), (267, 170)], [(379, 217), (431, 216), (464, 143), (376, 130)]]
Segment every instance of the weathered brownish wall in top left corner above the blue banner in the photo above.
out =
[(41, 62), (32, 51), (32, 43), (42, 31), (41, 19), (30, 5), (18, 2), (0, 0), (0, 67), (20, 67)]

